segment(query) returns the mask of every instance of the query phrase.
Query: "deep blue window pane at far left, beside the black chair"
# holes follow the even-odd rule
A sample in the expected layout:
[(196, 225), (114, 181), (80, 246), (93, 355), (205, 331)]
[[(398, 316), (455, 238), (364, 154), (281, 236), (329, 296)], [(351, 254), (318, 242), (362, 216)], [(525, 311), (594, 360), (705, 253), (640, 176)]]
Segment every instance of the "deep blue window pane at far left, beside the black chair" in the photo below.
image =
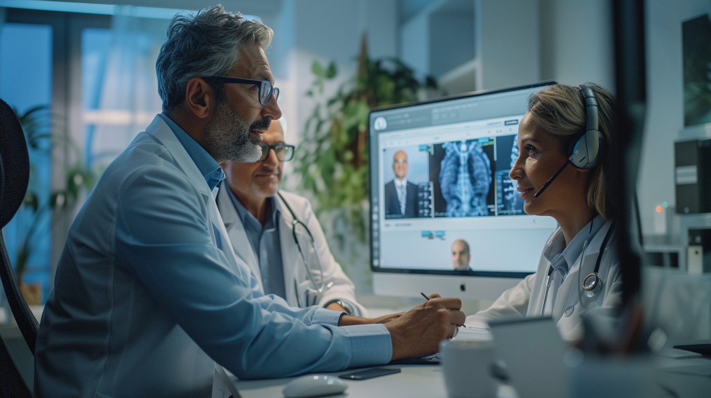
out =
[[(37, 286), (46, 297), (50, 285), (51, 213), (43, 208), (50, 199), (51, 158), (48, 140), (52, 95), (52, 26), (38, 23), (4, 23), (0, 26), (0, 97), (19, 115), (27, 114), (36, 128), (31, 134), (31, 193), (39, 207), (23, 206), (3, 230), (11, 262), (20, 267), (22, 281)], [(28, 50), (31, 49), (31, 50)], [(43, 107), (34, 112), (31, 109)], [(28, 114), (30, 112), (30, 114)], [(22, 271), (23, 270), (23, 271)]]

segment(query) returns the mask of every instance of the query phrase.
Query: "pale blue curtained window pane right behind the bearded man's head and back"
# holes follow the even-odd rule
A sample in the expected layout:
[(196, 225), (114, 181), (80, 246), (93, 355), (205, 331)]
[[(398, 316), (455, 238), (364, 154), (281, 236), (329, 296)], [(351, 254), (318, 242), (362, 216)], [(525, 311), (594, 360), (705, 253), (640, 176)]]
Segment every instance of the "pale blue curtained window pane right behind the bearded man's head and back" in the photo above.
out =
[(155, 64), (169, 20), (130, 14), (82, 31), (82, 138), (97, 173), (161, 112)]

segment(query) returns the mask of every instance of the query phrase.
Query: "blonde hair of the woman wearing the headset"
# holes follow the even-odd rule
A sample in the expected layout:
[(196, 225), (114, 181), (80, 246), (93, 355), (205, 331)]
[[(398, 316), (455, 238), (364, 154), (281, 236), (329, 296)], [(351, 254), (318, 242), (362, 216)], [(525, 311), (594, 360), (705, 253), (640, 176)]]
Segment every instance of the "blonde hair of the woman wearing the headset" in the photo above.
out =
[[(609, 151), (614, 148), (614, 97), (603, 87), (585, 83), (595, 93), (599, 112), (598, 129), (605, 137), (602, 161), (590, 173), (587, 187), (587, 205), (607, 220), (611, 209), (609, 180), (617, 173), (612, 171)], [(585, 131), (585, 103), (577, 87), (552, 85), (528, 98), (528, 112), (536, 124), (560, 142), (567, 153), (574, 139)]]

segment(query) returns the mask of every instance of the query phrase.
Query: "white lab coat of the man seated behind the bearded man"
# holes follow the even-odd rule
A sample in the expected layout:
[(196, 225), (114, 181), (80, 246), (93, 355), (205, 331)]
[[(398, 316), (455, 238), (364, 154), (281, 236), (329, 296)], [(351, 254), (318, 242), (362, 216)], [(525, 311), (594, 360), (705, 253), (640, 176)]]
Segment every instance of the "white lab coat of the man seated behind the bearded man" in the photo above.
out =
[[(260, 264), (257, 261), (254, 249), (252, 249), (252, 244), (250, 244), (250, 240), (247, 238), (247, 233), (245, 232), (244, 225), (242, 225), (242, 220), (240, 220), (240, 215), (232, 204), (232, 200), (230, 200), (227, 189), (224, 183), (220, 185), (217, 199), (220, 215), (223, 218), (223, 222), (225, 222), (225, 228), (228, 231), (232, 247), (235, 249), (235, 254), (249, 265), (252, 274), (254, 274), (257, 281), (259, 281), (260, 289), (262, 289), (263, 293), (264, 288), (262, 286)], [(287, 200), (292, 210), (294, 210), (294, 214), (299, 221), (309, 227), (311, 235), (314, 236), (316, 249), (319, 252), (318, 255), (319, 259), (321, 259), (321, 267), (324, 269), (326, 284), (331, 281), (333, 282), (331, 289), (327, 289), (321, 294), (315, 290), (314, 284), (311, 283), (311, 279), (309, 279), (306, 274), (306, 267), (304, 267), (301, 254), (299, 254), (299, 249), (296, 247), (296, 242), (294, 242), (292, 232), (294, 217), (292, 217), (292, 213), (289, 212), (277, 195), (275, 197), (275, 203), (277, 204), (277, 210), (279, 210), (279, 220), (277, 220), (277, 222), (279, 223), (279, 241), (281, 242), (282, 263), (284, 264), (284, 287), (287, 295), (285, 298), (289, 305), (300, 307), (308, 305), (324, 306), (328, 301), (345, 299), (353, 303), (356, 307), (355, 311), (359, 311), (356, 313), (360, 313), (360, 316), (368, 316), (365, 307), (361, 306), (358, 301), (355, 301), (353, 282), (351, 279), (348, 279), (348, 276), (343, 272), (341, 265), (336, 262), (336, 259), (333, 259), (333, 254), (331, 254), (331, 250), (328, 249), (324, 231), (321, 230), (321, 225), (319, 224), (319, 220), (316, 219), (314, 211), (311, 209), (309, 200), (303, 196), (284, 192), (283, 190), (280, 191), (280, 193), (284, 196), (284, 199)], [(320, 285), (321, 272), (319, 271), (319, 265), (314, 257), (311, 238), (303, 228), (299, 228), (297, 233), (301, 249), (306, 251), (306, 261), (309, 264), (309, 269), (311, 269), (311, 274), (314, 275)]]

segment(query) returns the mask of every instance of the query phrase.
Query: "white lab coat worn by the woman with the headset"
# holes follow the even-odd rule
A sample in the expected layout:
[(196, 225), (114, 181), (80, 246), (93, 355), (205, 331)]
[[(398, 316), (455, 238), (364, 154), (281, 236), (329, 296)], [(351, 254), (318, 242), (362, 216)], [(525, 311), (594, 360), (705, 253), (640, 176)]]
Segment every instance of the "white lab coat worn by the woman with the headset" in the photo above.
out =
[[(560, 334), (566, 340), (577, 340), (582, 337), (580, 316), (583, 314), (594, 318), (594, 321), (602, 328), (613, 328), (616, 323), (614, 314), (616, 306), (621, 301), (622, 283), (619, 258), (617, 257), (616, 232), (612, 232), (606, 248), (603, 250), (597, 273), (602, 280), (602, 290), (597, 295), (588, 297), (582, 289), (584, 277), (594, 271), (602, 241), (610, 226), (611, 220), (607, 220), (589, 241), (587, 248), (577, 258), (565, 277), (565, 281), (560, 285), (557, 295), (555, 295), (555, 303), (551, 302), (553, 286), (548, 293), (544, 315), (552, 316)], [(544, 252), (559, 234), (562, 234), (560, 228), (553, 232), (543, 248)], [(583, 255), (584, 259), (581, 258)], [(491, 307), (468, 316), (466, 325), (486, 326), (486, 323), (492, 320), (540, 316), (548, 278), (548, 267), (550, 267), (550, 262), (541, 254), (535, 274), (526, 276), (518, 285), (504, 291)]]

